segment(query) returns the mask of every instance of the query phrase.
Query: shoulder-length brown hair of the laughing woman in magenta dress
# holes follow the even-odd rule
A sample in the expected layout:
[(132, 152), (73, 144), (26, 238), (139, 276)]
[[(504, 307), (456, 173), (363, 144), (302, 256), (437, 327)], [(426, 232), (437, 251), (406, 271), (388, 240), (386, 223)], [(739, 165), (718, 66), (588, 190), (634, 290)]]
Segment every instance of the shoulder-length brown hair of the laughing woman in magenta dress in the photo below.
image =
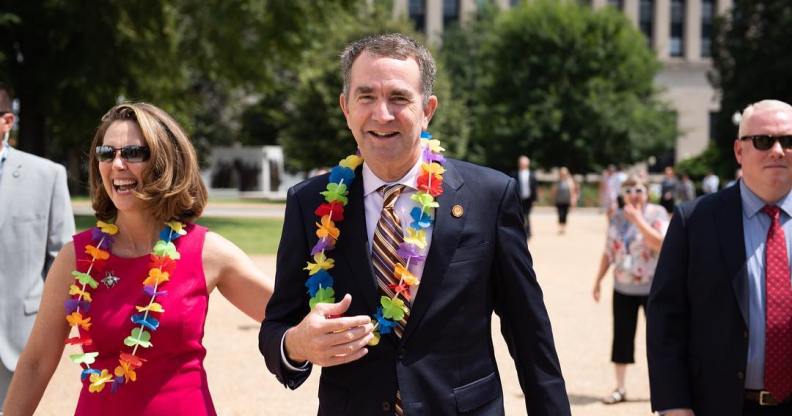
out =
[(135, 196), (146, 202), (148, 211), (158, 221), (198, 218), (206, 206), (207, 195), (195, 148), (168, 113), (148, 103), (116, 105), (102, 117), (96, 129), (88, 159), (91, 202), (96, 217), (110, 221), (117, 213), (102, 185), (96, 146), (102, 145), (107, 129), (118, 121), (137, 124), (151, 151), (149, 165), (143, 172), (142, 189)]

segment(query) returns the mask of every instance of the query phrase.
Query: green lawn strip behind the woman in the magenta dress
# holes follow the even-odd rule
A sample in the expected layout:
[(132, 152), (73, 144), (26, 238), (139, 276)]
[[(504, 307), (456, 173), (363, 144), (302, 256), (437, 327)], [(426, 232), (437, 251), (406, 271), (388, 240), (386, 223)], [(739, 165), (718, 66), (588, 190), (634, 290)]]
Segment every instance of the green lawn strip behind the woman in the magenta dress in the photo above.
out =
[[(78, 231), (96, 224), (91, 215), (75, 215), (74, 221)], [(275, 254), (283, 228), (283, 220), (270, 218), (201, 218), (198, 224), (233, 241), (250, 255)]]

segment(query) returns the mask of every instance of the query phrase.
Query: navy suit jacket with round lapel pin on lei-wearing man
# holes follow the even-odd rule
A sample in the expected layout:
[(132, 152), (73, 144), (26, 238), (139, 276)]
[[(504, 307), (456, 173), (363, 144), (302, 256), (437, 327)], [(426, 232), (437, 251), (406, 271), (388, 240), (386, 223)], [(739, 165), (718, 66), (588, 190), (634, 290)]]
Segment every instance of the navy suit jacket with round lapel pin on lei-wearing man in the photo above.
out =
[[(491, 317), (515, 360), (531, 415), (568, 415), (569, 403), (550, 321), (525, 243), (516, 184), (508, 176), (448, 160), (432, 243), (404, 337), (385, 335), (362, 359), (322, 370), (320, 415), (390, 413), (400, 389), (407, 415), (503, 414)], [(332, 257), (336, 299), (352, 295), (348, 316), (372, 315), (379, 294), (371, 268), (360, 169)], [(259, 349), (286, 386), (308, 372), (281, 361), (284, 332), (308, 313), (302, 270), (315, 244), (314, 209), (327, 176), (289, 191), (278, 249), (275, 293), (261, 325)], [(464, 215), (451, 215), (461, 205)]]

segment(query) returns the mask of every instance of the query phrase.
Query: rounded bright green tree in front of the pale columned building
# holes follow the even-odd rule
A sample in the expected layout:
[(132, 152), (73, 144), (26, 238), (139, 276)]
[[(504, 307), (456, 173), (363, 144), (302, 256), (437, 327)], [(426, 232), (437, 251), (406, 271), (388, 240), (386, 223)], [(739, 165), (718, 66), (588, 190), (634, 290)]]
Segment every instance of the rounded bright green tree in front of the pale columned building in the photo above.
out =
[(486, 164), (513, 169), (524, 153), (586, 172), (673, 145), (675, 115), (653, 85), (659, 64), (621, 13), (537, 0), (483, 24), (470, 110), (471, 151)]

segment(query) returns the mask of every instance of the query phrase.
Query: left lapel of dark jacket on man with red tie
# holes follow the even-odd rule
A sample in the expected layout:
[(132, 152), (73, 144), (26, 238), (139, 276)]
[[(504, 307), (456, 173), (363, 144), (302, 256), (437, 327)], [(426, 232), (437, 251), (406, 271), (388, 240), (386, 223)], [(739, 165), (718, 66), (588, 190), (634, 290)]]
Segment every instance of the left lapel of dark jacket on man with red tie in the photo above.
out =
[(715, 211), (721, 256), (726, 275), (731, 279), (740, 313), (748, 324), (748, 269), (745, 258), (745, 237), (742, 223), (740, 187), (735, 185), (720, 194), (723, 209)]

